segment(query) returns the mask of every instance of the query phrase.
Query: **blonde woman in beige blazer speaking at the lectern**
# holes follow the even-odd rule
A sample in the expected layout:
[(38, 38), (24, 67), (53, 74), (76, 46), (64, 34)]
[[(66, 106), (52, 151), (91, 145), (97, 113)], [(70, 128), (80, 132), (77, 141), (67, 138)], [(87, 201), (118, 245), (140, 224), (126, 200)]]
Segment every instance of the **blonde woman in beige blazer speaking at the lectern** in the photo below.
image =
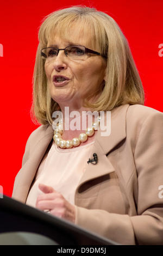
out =
[[(121, 244), (162, 245), (163, 115), (143, 102), (127, 40), (110, 16), (72, 7), (46, 17), (34, 70), (42, 125), (28, 139), (12, 196)], [(90, 129), (70, 129), (67, 107), (80, 124), (86, 111), (104, 111), (106, 127), (111, 111), (111, 132), (102, 136), (87, 119)]]

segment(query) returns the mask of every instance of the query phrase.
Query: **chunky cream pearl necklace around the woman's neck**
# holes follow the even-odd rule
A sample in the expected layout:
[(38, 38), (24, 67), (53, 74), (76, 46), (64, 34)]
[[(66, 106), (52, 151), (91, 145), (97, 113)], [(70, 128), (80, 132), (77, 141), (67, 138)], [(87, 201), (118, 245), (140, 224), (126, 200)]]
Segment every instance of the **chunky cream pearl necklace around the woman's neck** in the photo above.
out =
[(57, 129), (54, 130), (54, 142), (61, 149), (71, 149), (72, 147), (78, 147), (81, 142), (86, 142), (88, 137), (91, 137), (99, 127), (100, 117), (97, 118), (97, 121), (92, 124), (92, 127), (86, 129), (85, 132), (80, 133), (79, 137), (73, 138), (72, 140), (62, 139), (62, 120), (57, 124)]

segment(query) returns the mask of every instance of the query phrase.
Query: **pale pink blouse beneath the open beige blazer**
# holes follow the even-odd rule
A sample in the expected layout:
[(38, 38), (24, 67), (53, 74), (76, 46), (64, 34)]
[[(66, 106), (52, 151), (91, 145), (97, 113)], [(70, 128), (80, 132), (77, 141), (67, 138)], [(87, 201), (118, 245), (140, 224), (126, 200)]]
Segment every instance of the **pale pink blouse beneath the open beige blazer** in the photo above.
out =
[(60, 192), (68, 202), (74, 204), (74, 193), (87, 166), (91, 142), (72, 149), (60, 149), (52, 144), (48, 154), (42, 160), (26, 204), (35, 207), (36, 199), (42, 192), (38, 185), (45, 184)]

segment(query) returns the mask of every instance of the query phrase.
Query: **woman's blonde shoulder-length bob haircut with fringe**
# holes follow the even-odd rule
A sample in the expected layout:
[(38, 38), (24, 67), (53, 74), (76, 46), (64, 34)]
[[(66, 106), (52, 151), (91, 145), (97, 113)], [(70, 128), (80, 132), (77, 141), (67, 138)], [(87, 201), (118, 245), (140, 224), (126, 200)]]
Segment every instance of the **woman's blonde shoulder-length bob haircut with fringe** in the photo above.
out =
[[(82, 32), (89, 28), (92, 47), (98, 48), (107, 56), (106, 79), (101, 96), (90, 104), (85, 99), (85, 105), (91, 111), (111, 111), (111, 109), (129, 103), (130, 105), (144, 103), (144, 92), (139, 73), (127, 39), (120, 27), (109, 15), (95, 8), (75, 6), (54, 11), (45, 17), (39, 30), (39, 46), (33, 75), (33, 105), (32, 119), (40, 124), (53, 123), (52, 114), (60, 107), (55, 102), (47, 86), (45, 60), (41, 58), (41, 49), (47, 47), (55, 32), (69, 37), (73, 25), (82, 24)], [(79, 26), (81, 27), (81, 26)], [(57, 31), (56, 31), (57, 29)], [(95, 48), (92, 48), (95, 50)]]

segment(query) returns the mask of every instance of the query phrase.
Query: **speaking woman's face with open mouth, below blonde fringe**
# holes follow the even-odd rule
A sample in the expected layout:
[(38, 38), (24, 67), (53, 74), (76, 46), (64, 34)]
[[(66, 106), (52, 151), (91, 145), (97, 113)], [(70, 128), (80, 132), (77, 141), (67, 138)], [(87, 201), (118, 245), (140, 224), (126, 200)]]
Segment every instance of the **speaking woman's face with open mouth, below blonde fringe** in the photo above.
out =
[[(81, 45), (91, 48), (94, 51), (99, 49), (92, 48), (89, 31), (87, 36), (79, 33), (78, 28), (71, 30), (70, 39), (65, 40), (62, 36), (55, 33), (47, 47), (65, 48), (70, 45)], [(105, 79), (106, 62), (105, 59), (96, 54), (88, 54), (85, 60), (72, 60), (65, 55), (64, 51), (59, 51), (57, 57), (51, 61), (46, 60), (45, 71), (48, 87), (52, 99), (60, 107), (69, 106), (74, 109), (83, 106), (83, 100), (91, 96), (90, 102), (97, 100), (101, 93), (101, 84)], [(63, 82), (61, 82), (64, 80)]]

